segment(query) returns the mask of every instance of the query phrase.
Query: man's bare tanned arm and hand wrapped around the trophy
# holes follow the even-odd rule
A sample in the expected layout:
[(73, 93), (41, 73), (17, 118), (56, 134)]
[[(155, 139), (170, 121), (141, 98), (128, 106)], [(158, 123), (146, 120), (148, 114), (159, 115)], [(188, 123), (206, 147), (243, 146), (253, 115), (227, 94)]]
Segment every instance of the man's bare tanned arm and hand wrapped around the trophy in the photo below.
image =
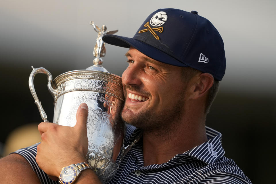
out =
[[(54, 181), (57, 181), (62, 167), (85, 162), (88, 150), (86, 129), (88, 108), (86, 104), (83, 105), (84, 108), (80, 106), (77, 111), (76, 126), (67, 127), (42, 122), (38, 127), (42, 138), (41, 143), (25, 148), (30, 159), (36, 162), (35, 165), (38, 164), (39, 168)], [(25, 151), (23, 150), (24, 153)], [(18, 154), (11, 154), (0, 159), (0, 178), (0, 183), (40, 183), (30, 163)], [(81, 183), (96, 184), (100, 181), (93, 170), (87, 169), (76, 181), (76, 184)]]

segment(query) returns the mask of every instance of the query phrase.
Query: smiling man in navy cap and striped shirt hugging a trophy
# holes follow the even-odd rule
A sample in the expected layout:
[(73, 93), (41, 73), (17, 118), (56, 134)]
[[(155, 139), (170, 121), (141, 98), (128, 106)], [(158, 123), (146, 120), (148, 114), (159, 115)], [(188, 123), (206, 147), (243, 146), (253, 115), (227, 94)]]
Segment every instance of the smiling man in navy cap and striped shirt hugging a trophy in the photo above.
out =
[[(129, 47), (121, 116), (130, 124), (124, 146), (131, 149), (119, 156), (110, 183), (251, 183), (223, 156), (221, 134), (205, 127), (225, 73), (223, 41), (207, 19), (196, 11), (158, 9), (133, 39), (106, 35), (103, 41)], [(45, 173), (57, 179), (62, 167), (85, 162), (86, 104), (76, 117), (75, 127), (39, 124), (40, 144), (2, 159), (1, 168), (15, 166), (6, 170), (7, 181), (53, 183)], [(91, 169), (75, 182), (99, 183)]]

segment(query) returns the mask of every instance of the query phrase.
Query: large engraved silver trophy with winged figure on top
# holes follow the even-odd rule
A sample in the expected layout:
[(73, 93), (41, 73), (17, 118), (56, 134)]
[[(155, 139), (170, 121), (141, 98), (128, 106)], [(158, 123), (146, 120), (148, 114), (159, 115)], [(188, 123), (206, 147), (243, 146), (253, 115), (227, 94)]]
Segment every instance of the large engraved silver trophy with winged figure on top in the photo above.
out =
[(74, 126), (76, 111), (81, 103), (88, 105), (87, 162), (92, 166), (102, 183), (107, 183), (116, 172), (116, 160), (124, 138), (124, 124), (120, 121), (120, 111), (124, 101), (121, 77), (109, 73), (101, 66), (106, 53), (102, 37), (114, 34), (106, 26), (100, 29), (92, 21), (90, 24), (98, 32), (94, 48), (94, 65), (86, 70), (74, 70), (57, 76), (52, 81), (51, 73), (45, 68), (33, 68), (29, 77), (29, 87), (44, 122), (49, 122), (34, 90), (34, 76), (44, 73), (48, 77), (48, 90), (54, 98), (53, 123)]

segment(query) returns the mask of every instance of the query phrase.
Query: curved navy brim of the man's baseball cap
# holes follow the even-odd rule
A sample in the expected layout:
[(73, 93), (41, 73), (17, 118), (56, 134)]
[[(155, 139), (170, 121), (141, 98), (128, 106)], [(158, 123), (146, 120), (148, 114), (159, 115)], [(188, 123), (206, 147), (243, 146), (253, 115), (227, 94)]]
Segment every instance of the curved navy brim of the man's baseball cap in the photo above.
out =
[(134, 47), (135, 49), (139, 50), (141, 53), (145, 54), (146, 56), (154, 60), (160, 61), (162, 63), (166, 63), (174, 66), (181, 66), (181, 67), (187, 66), (186, 64), (164, 53), (163, 51), (151, 45), (148, 45), (147, 43), (139, 41), (137, 39), (122, 37), (122, 36), (113, 35), (113, 34), (105, 35), (102, 39), (104, 42), (111, 45), (116, 45), (116, 46), (125, 47), (125, 48)]

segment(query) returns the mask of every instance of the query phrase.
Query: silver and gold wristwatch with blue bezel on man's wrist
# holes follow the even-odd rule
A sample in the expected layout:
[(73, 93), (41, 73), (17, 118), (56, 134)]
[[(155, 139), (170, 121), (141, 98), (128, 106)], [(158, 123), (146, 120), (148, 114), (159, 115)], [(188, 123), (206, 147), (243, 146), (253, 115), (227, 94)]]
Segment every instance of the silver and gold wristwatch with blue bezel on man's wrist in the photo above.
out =
[(85, 169), (92, 169), (87, 162), (78, 164), (71, 164), (70, 166), (63, 167), (60, 172), (59, 182), (61, 184), (74, 183)]

